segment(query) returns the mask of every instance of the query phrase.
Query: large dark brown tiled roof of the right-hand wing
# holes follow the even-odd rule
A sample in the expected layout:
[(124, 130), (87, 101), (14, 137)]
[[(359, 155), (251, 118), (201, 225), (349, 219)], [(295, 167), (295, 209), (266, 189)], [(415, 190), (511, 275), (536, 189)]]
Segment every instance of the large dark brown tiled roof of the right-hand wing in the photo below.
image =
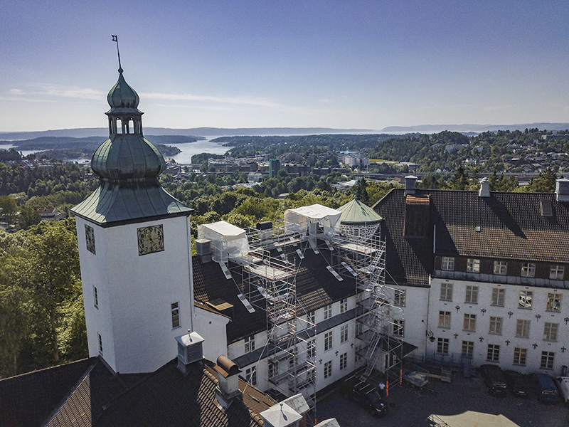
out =
[[(405, 238), (406, 209), (403, 189), (393, 189), (373, 209), (385, 221), (385, 268), (388, 281), (400, 285), (428, 285), (436, 253), (569, 263), (569, 206), (553, 193), (492, 192), (418, 189), (415, 196), (429, 196), (426, 238)], [(551, 204), (552, 215), (542, 216), (541, 206)], [(436, 228), (435, 242), (433, 230)], [(392, 279), (393, 278), (393, 279)]]

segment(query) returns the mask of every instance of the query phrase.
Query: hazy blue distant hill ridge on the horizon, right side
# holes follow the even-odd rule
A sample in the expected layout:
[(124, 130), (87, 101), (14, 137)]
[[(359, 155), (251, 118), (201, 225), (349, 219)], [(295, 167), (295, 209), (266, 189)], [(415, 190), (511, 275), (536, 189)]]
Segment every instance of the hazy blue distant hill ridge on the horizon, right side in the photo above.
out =
[(569, 123), (522, 123), (518, 125), (417, 125), (417, 126), (388, 126), (384, 127), (382, 133), (424, 133), (432, 134), (442, 132), (443, 130), (450, 130), (451, 132), (462, 133), (481, 133), (481, 132), (496, 132), (498, 130), (526, 130), (532, 127), (537, 127), (539, 130), (566, 130), (569, 129)]

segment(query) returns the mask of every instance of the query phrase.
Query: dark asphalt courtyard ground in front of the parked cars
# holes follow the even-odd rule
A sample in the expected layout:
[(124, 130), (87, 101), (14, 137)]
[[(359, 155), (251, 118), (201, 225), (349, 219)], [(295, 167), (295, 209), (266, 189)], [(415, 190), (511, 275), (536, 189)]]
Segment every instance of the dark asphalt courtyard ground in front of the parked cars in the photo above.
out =
[[(342, 398), (339, 391), (317, 405), (317, 421), (335, 417), (341, 427), (426, 427), (432, 413), (453, 415), (465, 411), (502, 414), (520, 427), (568, 427), (569, 404), (541, 404), (535, 396), (521, 399), (512, 396), (493, 397), (486, 393), (482, 379), (465, 379), (453, 373), (451, 383), (431, 379), (422, 390), (409, 386), (390, 387), (385, 399), (390, 412), (374, 418), (354, 401)], [(451, 426), (454, 427), (454, 426)], [(491, 426), (489, 426), (491, 427)]]

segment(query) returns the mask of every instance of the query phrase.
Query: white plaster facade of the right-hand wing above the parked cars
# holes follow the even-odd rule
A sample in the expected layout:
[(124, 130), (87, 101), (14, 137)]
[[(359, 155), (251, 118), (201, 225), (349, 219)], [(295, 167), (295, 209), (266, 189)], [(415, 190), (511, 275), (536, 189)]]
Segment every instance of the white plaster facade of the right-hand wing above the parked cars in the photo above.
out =
[[(441, 283), (453, 283), (452, 302), (440, 301)], [(559, 375), (563, 365), (569, 366), (569, 325), (565, 325), (564, 320), (565, 317), (569, 317), (569, 290), (449, 279), (432, 279), (431, 285), (430, 325), (432, 325), (435, 337), (449, 338), (450, 353), (460, 354), (462, 352), (462, 341), (464, 340), (474, 342), (473, 362), (476, 366), (488, 363), (486, 361), (488, 344), (498, 344), (500, 346), (498, 364), (502, 369), (514, 369), (524, 373), (545, 371), (552, 375)], [(477, 304), (464, 303), (467, 285), (479, 287)], [(491, 305), (493, 288), (506, 290), (504, 307)], [(519, 292), (521, 290), (531, 290), (533, 292), (531, 309), (519, 307)], [(548, 293), (560, 293), (563, 295), (560, 312), (546, 310)], [(458, 312), (455, 308), (457, 306), (460, 307)], [(486, 310), (484, 313), (482, 313), (483, 308)], [(450, 330), (443, 330), (437, 327), (440, 310), (452, 312)], [(509, 315), (509, 312), (512, 314)], [(464, 313), (477, 315), (475, 332), (467, 332), (462, 329)], [(541, 317), (536, 318), (536, 315)], [(503, 318), (501, 335), (489, 333), (490, 317)], [(528, 338), (516, 337), (516, 320), (518, 319), (531, 322)], [(558, 339), (556, 342), (543, 340), (545, 322), (558, 323)], [(455, 333), (458, 334), (457, 338), (454, 338)], [(480, 341), (481, 337), (482, 342)], [(509, 341), (509, 344), (506, 344), (506, 340)], [(533, 344), (537, 344), (535, 349)], [(527, 349), (526, 367), (513, 364), (514, 348), (516, 347)], [(564, 352), (562, 347), (566, 348)], [(436, 340), (428, 344), (427, 351), (432, 353), (436, 349)], [(540, 369), (541, 352), (543, 351), (555, 353), (553, 370)]]

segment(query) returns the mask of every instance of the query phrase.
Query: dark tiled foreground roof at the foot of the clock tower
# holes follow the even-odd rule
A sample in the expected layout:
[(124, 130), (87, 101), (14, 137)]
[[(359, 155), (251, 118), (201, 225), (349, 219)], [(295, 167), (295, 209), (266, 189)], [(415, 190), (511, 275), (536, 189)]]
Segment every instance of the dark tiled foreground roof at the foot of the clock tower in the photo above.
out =
[(261, 426), (275, 404), (239, 380), (243, 401), (216, 404), (213, 363), (196, 362), (184, 376), (177, 359), (152, 374), (121, 375), (99, 358), (0, 381), (0, 426)]

